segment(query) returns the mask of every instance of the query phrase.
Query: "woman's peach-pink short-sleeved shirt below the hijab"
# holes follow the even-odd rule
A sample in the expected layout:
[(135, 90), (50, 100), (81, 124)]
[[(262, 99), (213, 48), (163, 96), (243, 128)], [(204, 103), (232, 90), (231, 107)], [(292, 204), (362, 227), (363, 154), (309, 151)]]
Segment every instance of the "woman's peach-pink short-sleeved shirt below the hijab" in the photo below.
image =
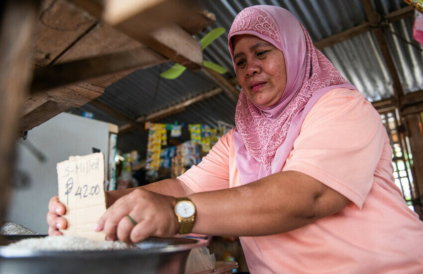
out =
[[(194, 192), (241, 186), (232, 130), (181, 179)], [(240, 237), (252, 274), (423, 273), (423, 222), (394, 184), (392, 152), (377, 111), (334, 89), (307, 115), (282, 171), (308, 174), (351, 202), (291, 232)]]

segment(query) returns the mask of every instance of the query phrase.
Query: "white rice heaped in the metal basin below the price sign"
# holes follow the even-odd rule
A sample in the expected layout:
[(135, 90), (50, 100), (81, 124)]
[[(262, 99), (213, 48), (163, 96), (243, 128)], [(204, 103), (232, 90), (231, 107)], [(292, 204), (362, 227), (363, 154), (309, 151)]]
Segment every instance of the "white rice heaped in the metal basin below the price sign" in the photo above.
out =
[(93, 241), (76, 236), (47, 236), (23, 239), (5, 247), (7, 249), (30, 249), (44, 251), (83, 251), (83, 250), (125, 250), (138, 249), (121, 241)]

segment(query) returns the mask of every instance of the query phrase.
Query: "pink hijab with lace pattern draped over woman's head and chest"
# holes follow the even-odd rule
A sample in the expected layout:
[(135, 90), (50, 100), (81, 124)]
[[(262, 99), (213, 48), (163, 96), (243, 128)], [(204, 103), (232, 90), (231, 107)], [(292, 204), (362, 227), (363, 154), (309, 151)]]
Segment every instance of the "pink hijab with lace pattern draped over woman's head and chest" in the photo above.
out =
[(243, 184), (282, 170), (301, 125), (317, 100), (334, 88), (356, 90), (314, 47), (309, 33), (288, 10), (270, 5), (243, 9), (228, 34), (251, 34), (284, 54), (287, 84), (274, 106), (254, 104), (241, 90), (235, 111), (233, 143), (236, 166)]

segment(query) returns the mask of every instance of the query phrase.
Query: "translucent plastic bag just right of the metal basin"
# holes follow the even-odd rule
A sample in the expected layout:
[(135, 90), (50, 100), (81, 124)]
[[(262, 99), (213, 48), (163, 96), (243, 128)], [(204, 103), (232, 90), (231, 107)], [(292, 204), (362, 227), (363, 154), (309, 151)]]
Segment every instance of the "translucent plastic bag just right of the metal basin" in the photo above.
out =
[(188, 256), (185, 274), (212, 270), (215, 266), (216, 258), (214, 258), (214, 254), (210, 254), (210, 250), (207, 247), (194, 248)]

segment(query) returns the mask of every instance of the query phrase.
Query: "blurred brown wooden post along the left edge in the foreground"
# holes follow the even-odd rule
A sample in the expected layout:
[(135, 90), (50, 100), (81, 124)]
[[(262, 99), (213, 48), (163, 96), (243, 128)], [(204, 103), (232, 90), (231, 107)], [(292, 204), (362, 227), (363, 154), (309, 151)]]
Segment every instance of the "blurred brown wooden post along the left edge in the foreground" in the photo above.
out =
[(38, 1), (7, 0), (0, 28), (0, 223), (9, 200), (20, 109), (32, 75)]

